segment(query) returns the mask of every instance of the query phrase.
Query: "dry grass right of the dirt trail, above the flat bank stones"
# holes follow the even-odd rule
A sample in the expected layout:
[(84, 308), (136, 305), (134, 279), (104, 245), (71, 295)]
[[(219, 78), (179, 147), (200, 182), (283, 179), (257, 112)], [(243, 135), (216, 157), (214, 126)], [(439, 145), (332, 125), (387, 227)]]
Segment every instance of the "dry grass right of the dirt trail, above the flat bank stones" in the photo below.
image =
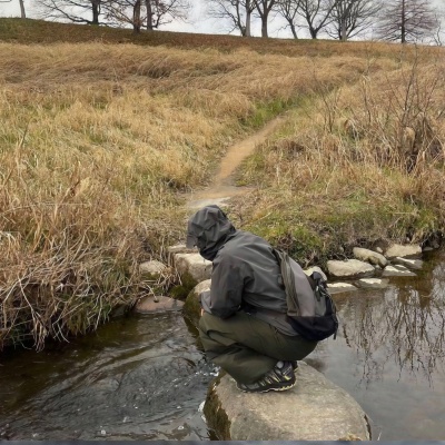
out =
[[(445, 229), (445, 66), (415, 60), (322, 92), (246, 162), (249, 227), (303, 263)], [(241, 211), (238, 209), (238, 211)]]

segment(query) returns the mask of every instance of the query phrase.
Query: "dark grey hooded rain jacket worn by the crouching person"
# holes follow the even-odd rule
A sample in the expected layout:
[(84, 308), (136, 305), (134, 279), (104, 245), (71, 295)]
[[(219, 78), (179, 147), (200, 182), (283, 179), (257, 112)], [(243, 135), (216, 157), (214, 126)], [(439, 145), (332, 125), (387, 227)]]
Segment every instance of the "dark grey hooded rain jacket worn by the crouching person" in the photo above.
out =
[(227, 318), (245, 310), (285, 335), (298, 335), (287, 322), (279, 266), (265, 239), (235, 229), (218, 206), (207, 206), (188, 221), (187, 247), (194, 246), (212, 261), (210, 291), (201, 294), (206, 312)]

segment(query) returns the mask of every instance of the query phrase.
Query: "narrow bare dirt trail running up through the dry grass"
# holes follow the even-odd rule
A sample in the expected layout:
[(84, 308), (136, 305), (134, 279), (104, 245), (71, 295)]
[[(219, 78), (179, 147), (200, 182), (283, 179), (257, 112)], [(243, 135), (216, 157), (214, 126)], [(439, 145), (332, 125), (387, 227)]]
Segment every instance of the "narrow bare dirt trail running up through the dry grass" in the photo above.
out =
[(187, 207), (197, 209), (211, 204), (224, 205), (225, 201), (234, 196), (251, 191), (253, 187), (237, 187), (235, 185), (234, 172), (243, 160), (251, 155), (255, 148), (263, 144), (281, 121), (283, 116), (278, 116), (256, 134), (234, 144), (221, 159), (218, 172), (210, 186), (188, 194)]

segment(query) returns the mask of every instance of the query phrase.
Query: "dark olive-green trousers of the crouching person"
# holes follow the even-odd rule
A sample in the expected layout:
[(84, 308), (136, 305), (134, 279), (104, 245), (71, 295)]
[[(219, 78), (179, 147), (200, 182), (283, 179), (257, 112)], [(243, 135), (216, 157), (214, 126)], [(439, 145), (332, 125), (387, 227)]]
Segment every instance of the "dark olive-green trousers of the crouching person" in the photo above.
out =
[(241, 310), (229, 318), (205, 313), (198, 327), (208, 358), (244, 384), (256, 382), (278, 360), (305, 358), (317, 346), (299, 335), (284, 335)]

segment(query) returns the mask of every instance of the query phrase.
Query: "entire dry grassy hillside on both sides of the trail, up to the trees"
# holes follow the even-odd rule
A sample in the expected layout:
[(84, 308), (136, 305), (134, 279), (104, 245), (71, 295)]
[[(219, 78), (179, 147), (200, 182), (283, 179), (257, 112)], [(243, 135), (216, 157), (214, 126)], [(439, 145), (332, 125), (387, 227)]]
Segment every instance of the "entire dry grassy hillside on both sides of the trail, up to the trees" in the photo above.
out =
[(239, 171), (258, 187), (245, 228), (305, 265), (442, 230), (438, 55), (1, 19), (0, 338), (42, 347), (167, 291), (138, 264), (184, 239), (184, 194), (226, 147), (284, 111)]

